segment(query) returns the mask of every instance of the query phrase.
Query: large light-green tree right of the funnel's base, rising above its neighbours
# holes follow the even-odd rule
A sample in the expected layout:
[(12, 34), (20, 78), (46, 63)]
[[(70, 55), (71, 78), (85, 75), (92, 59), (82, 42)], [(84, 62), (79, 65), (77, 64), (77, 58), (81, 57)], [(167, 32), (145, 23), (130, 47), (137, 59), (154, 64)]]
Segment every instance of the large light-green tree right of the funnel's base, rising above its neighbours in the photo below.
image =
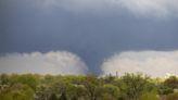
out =
[(117, 86), (126, 100), (139, 100), (148, 79), (149, 77), (143, 77), (142, 74), (126, 74), (120, 77)]

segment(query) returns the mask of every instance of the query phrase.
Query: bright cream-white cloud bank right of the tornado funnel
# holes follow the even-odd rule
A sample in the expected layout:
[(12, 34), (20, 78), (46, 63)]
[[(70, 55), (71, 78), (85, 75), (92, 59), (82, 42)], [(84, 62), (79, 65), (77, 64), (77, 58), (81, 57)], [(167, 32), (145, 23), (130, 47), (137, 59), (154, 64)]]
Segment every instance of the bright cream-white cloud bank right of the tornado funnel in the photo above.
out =
[(127, 51), (107, 59), (102, 74), (143, 73), (152, 77), (178, 74), (178, 51)]

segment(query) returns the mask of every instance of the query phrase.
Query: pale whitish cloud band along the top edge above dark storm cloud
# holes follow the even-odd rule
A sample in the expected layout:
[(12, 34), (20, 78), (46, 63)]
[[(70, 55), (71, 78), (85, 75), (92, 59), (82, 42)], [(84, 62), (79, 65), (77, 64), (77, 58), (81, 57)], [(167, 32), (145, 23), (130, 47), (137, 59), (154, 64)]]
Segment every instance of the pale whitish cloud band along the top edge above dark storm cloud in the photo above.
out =
[(75, 12), (128, 11), (136, 15), (178, 16), (178, 0), (37, 0), (43, 7)]

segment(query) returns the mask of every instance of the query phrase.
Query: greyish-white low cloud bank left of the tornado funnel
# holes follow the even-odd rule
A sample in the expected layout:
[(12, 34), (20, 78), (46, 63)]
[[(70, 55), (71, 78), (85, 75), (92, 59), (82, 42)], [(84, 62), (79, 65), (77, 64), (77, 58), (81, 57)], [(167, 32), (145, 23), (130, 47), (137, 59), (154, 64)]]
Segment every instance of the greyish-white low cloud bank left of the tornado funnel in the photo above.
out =
[(66, 51), (13, 53), (0, 57), (0, 73), (79, 75), (86, 74), (87, 71), (87, 65), (79, 57)]

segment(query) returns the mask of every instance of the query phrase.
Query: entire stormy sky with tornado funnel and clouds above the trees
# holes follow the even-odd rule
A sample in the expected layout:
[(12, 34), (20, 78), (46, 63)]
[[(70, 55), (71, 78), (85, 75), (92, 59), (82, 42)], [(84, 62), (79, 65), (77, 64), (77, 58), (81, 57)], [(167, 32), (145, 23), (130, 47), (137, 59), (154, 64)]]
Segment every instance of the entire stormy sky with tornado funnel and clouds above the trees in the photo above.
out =
[(178, 74), (178, 0), (0, 0), (0, 73)]

